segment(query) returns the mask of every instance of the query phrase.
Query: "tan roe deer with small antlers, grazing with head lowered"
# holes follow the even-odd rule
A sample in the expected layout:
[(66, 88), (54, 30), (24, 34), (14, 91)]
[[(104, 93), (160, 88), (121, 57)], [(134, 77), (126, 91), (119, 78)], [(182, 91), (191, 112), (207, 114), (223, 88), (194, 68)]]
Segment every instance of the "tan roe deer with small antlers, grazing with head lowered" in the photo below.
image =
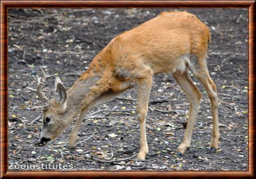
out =
[(188, 73), (190, 70), (202, 83), (211, 100), (211, 151), (216, 150), (219, 139), (217, 88), (206, 65), (210, 40), (209, 29), (194, 15), (188, 12), (162, 12), (156, 18), (114, 37), (68, 91), (65, 91), (57, 76), (51, 101), (46, 99), (42, 91), (43, 82), (49, 77), (44, 73), (44, 79), (41, 82), (38, 78), (38, 88), (33, 90), (46, 103), (43, 107), (41, 143), (55, 139), (80, 114), (69, 137), (69, 144), (75, 146), (78, 129), (91, 107), (136, 86), (141, 133), (138, 159), (145, 160), (148, 153), (145, 120), (153, 75), (171, 73), (190, 102), (187, 129), (177, 151), (178, 155), (183, 155), (190, 147), (201, 99), (201, 93)]

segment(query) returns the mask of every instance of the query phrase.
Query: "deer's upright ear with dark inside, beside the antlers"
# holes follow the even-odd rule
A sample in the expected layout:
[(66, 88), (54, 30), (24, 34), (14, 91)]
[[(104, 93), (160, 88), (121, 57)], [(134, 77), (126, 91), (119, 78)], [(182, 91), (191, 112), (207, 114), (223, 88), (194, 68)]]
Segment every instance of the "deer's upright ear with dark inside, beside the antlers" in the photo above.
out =
[(54, 102), (62, 106), (65, 110), (67, 103), (67, 94), (59, 76), (56, 76), (55, 79)]

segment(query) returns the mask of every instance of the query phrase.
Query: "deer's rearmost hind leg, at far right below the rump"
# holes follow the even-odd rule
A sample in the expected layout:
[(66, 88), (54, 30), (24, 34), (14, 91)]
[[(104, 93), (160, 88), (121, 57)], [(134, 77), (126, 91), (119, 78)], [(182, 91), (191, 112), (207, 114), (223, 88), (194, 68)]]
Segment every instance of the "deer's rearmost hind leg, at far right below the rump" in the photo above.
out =
[(211, 142), (211, 151), (214, 151), (218, 148), (219, 141), (219, 124), (218, 124), (218, 96), (217, 96), (217, 87), (213, 80), (210, 77), (208, 72), (205, 59), (201, 60), (201, 65), (197, 65), (197, 68), (191, 68), (192, 73), (196, 78), (202, 83), (205, 88), (205, 91), (211, 101), (211, 110), (213, 118), (213, 134)]

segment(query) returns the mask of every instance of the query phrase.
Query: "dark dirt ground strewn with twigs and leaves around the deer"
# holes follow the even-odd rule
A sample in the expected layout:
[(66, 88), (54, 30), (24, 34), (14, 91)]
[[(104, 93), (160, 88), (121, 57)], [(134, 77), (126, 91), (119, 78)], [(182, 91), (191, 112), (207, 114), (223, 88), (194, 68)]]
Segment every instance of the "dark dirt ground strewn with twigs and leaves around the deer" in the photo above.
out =
[[(189, 105), (170, 74), (154, 76), (146, 122), (146, 161), (125, 159), (139, 150), (135, 88), (89, 111), (76, 149), (67, 143), (74, 122), (51, 145), (36, 145), (42, 120), (30, 122), (41, 114), (41, 101), (26, 87), (36, 86), (33, 76), (42, 75), (40, 67), (48, 74), (59, 74), (69, 88), (114, 36), (164, 10), (177, 9), (9, 9), (9, 162), (72, 163), (74, 170), (248, 170), (247, 9), (187, 9), (212, 34), (207, 61), (219, 97), (221, 137), (216, 152), (208, 152), (210, 101), (192, 76), (203, 98), (190, 150), (176, 156)], [(47, 83), (51, 89), (53, 85), (54, 78)], [(96, 160), (109, 158), (113, 161)]]

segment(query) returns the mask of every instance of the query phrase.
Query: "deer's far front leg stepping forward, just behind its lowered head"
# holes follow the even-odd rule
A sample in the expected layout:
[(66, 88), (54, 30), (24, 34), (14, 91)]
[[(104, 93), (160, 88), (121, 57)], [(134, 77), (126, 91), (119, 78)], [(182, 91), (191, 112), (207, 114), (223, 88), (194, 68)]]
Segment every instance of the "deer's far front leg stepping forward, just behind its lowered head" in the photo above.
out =
[(79, 118), (76, 121), (75, 126), (73, 127), (73, 130), (71, 131), (70, 135), (69, 135), (69, 146), (71, 147), (75, 147), (76, 146), (76, 138), (77, 138), (77, 133), (78, 130), (85, 118), (85, 114), (88, 112), (88, 108), (84, 108), (82, 110), (82, 112), (80, 113)]

